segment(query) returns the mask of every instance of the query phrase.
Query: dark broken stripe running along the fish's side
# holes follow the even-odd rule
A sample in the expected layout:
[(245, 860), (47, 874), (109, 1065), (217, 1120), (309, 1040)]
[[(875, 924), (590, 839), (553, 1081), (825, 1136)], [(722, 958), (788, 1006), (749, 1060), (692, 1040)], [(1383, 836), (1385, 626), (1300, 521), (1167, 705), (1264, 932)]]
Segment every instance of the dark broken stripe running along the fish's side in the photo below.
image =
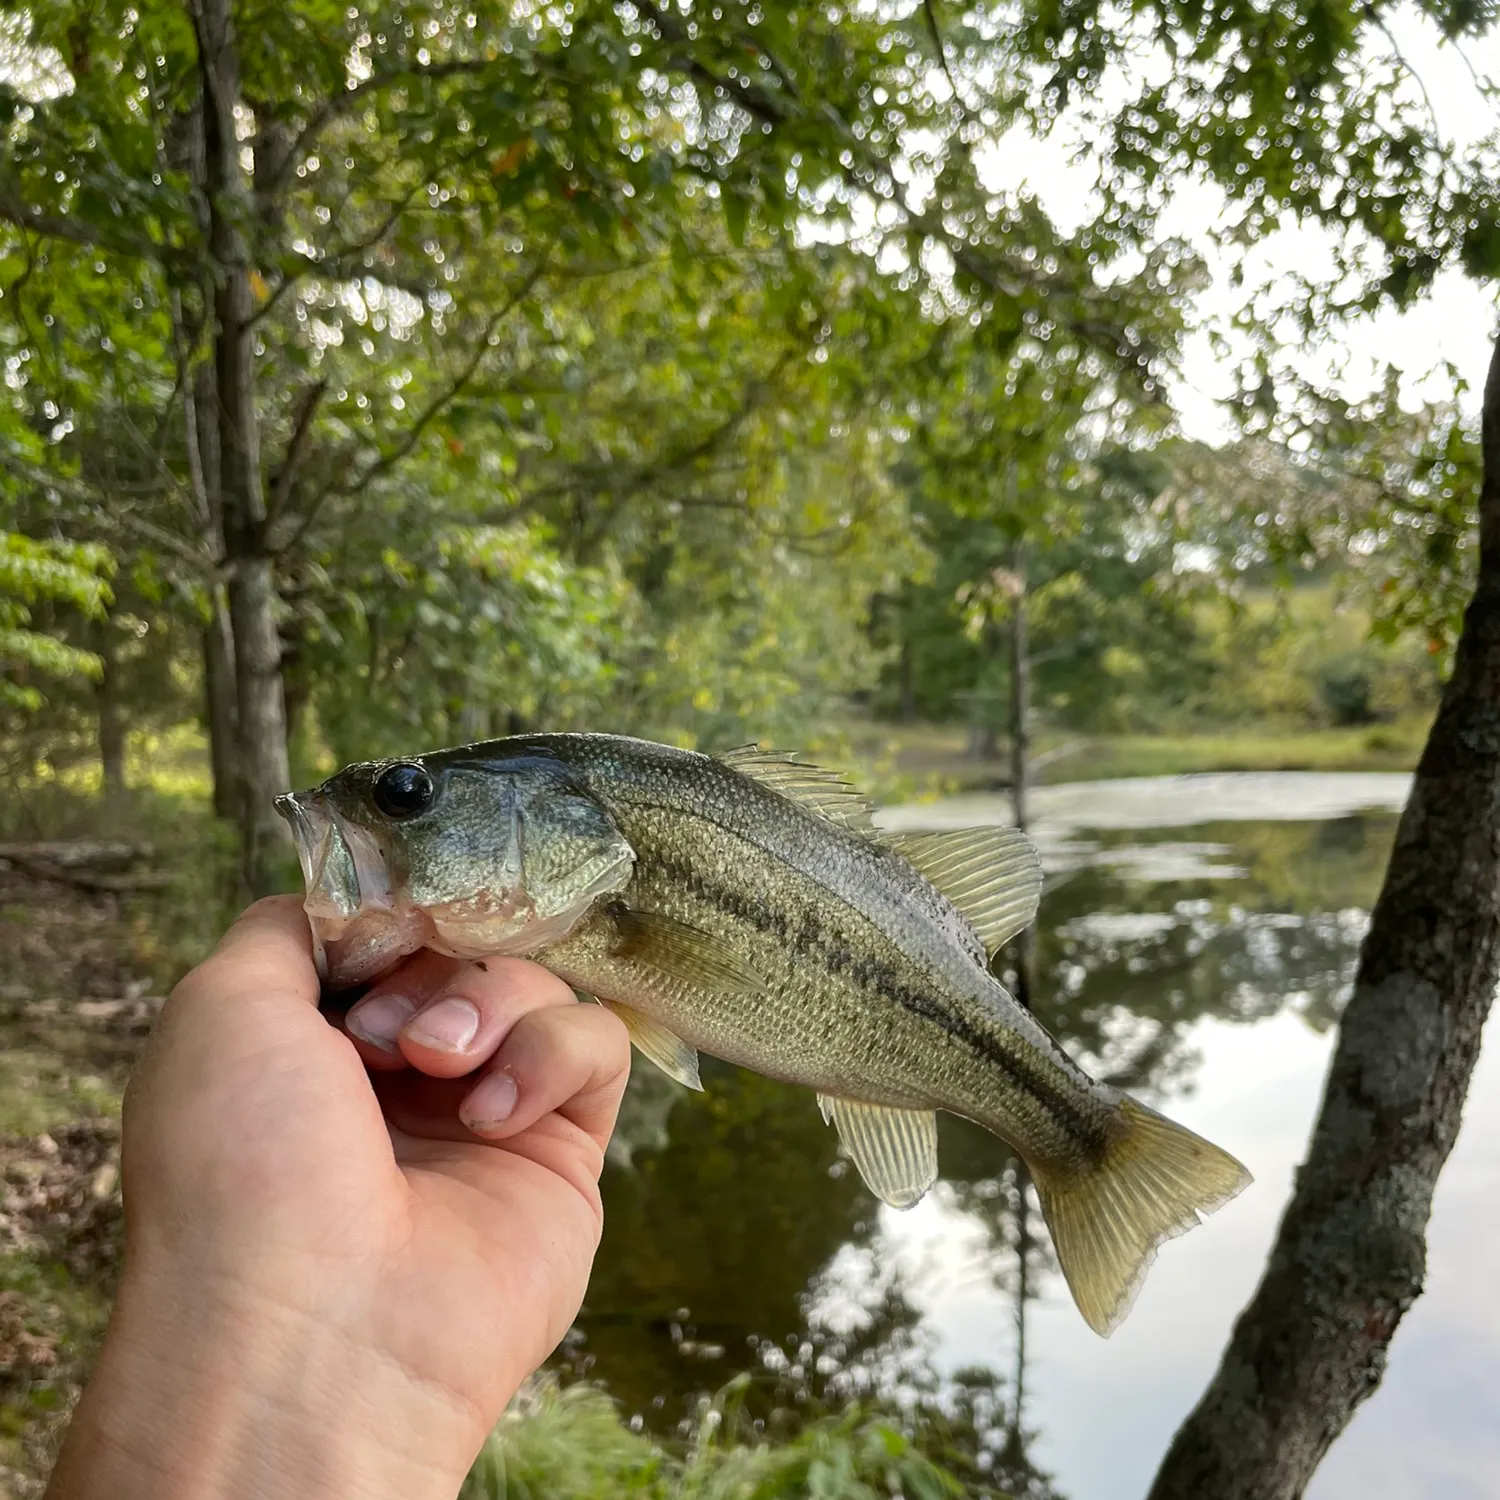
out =
[(654, 856), (651, 864), (656, 866), (657, 872), (682, 886), (705, 906), (712, 906), (726, 916), (747, 922), (758, 932), (776, 938), (800, 957), (820, 964), (840, 978), (852, 980), (861, 988), (874, 990), (902, 1005), (914, 1016), (940, 1026), (981, 1060), (998, 1068), (1014, 1089), (1035, 1100), (1064, 1130), (1074, 1134), (1088, 1134), (1089, 1120), (1072, 1102), (1070, 1094), (1056, 1088), (1050, 1078), (1040, 1077), (1036, 1072), (1028, 1070), (1017, 1056), (999, 1046), (993, 1036), (970, 1026), (962, 1016), (954, 1014), (933, 996), (912, 988), (879, 956), (856, 956), (849, 948), (834, 944), (826, 928), (814, 924), (794, 922), (786, 912), (777, 910), (765, 902), (756, 902), (730, 886), (718, 885), (700, 870), (690, 868), (672, 860), (663, 860), (660, 855)]

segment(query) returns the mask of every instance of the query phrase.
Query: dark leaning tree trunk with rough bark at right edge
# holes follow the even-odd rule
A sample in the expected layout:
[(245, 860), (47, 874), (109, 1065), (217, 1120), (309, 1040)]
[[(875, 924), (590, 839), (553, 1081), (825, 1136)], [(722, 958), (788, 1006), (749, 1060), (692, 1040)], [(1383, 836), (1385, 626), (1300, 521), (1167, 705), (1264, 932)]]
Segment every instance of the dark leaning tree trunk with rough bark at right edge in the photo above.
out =
[(1218, 1374), (1152, 1500), (1293, 1500), (1422, 1292), (1432, 1190), (1500, 972), (1500, 345), (1479, 579), (1418, 765), (1306, 1164)]

